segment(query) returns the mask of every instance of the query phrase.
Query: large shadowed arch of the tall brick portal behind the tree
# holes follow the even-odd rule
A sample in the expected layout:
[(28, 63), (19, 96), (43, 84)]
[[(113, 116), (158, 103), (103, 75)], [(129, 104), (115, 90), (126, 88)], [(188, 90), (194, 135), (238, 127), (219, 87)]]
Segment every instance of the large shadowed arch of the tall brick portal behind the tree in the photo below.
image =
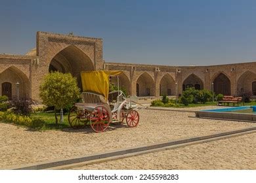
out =
[(81, 88), (81, 71), (93, 70), (95, 70), (93, 61), (74, 45), (70, 45), (58, 52), (49, 64), (49, 72), (71, 73), (72, 76), (77, 78), (79, 88)]

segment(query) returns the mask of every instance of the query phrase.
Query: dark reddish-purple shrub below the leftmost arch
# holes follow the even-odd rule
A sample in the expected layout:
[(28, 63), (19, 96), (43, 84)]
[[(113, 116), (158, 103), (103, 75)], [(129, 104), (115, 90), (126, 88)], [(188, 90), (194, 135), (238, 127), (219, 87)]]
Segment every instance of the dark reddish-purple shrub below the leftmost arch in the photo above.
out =
[(22, 114), (25, 116), (30, 115), (32, 112), (32, 104), (33, 101), (31, 99), (26, 99), (26, 97), (22, 97), (21, 99), (17, 99), (14, 97), (11, 101), (12, 111), (15, 114)]

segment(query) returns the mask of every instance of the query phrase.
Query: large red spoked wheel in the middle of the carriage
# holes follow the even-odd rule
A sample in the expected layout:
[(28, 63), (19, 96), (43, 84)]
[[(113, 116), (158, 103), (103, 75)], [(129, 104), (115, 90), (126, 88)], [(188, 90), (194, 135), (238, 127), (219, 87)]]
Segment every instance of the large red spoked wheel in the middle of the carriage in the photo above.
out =
[(110, 114), (104, 106), (95, 107), (90, 115), (90, 124), (94, 131), (103, 132), (110, 125)]

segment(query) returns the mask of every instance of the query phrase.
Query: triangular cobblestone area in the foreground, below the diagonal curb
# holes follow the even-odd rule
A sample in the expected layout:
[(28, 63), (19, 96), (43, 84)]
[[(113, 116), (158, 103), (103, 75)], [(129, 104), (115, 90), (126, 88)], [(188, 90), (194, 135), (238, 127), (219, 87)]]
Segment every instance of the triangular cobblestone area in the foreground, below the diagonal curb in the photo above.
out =
[(74, 169), (256, 169), (256, 133)]

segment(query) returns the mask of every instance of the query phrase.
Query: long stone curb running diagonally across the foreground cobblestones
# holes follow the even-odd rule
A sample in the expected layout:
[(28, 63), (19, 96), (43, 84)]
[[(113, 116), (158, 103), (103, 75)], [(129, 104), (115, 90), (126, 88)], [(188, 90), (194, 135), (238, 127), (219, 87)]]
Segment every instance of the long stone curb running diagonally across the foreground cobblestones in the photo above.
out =
[(228, 135), (233, 135), (236, 133), (244, 133), (247, 131), (253, 131), (256, 130), (255, 127), (247, 127), (243, 129), (238, 129), (235, 131), (226, 131), (223, 133), (214, 133), (211, 135), (205, 135), (205, 136), (199, 136), (199, 137), (191, 137), (188, 139), (179, 139), (177, 141), (167, 141), (167, 142), (158, 142), (154, 144), (148, 144), (147, 146), (135, 146), (132, 148), (123, 148), (120, 150), (113, 150), (110, 152), (104, 152), (104, 153), (98, 153), (98, 154), (89, 154), (85, 156), (77, 156), (73, 158), (66, 158), (66, 159), (54, 159), (53, 161), (42, 161), (39, 163), (30, 163), (27, 165), (20, 165), (16, 167), (9, 167), (7, 169), (14, 169), (14, 170), (39, 170), (39, 169), (50, 169), (53, 167), (61, 167), (64, 165), (69, 164), (75, 164), (75, 163), (85, 163), (85, 161), (93, 161), (93, 160), (100, 160), (103, 158), (111, 158), (113, 156), (123, 156), (123, 155), (129, 155), (134, 154), (137, 152), (146, 152), (148, 150), (154, 150), (157, 148), (166, 148), (167, 146), (175, 146), (179, 144), (186, 144), (189, 142), (196, 142), (196, 141), (202, 141), (207, 139), (213, 139), (216, 137), (225, 137)]

